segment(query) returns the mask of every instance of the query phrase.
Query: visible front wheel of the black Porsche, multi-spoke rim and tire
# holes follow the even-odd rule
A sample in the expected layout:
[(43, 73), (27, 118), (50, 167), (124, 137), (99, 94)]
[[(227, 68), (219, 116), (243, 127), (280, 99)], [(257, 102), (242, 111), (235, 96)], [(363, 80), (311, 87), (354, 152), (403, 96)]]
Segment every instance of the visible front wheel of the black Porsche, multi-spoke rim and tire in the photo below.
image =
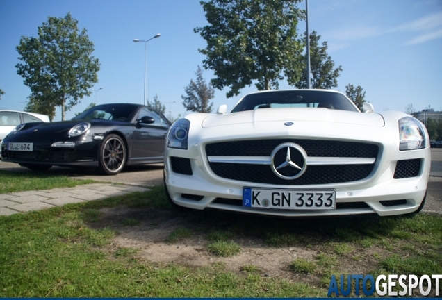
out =
[(104, 138), (98, 153), (99, 172), (116, 175), (126, 165), (126, 145), (119, 135), (111, 134)]

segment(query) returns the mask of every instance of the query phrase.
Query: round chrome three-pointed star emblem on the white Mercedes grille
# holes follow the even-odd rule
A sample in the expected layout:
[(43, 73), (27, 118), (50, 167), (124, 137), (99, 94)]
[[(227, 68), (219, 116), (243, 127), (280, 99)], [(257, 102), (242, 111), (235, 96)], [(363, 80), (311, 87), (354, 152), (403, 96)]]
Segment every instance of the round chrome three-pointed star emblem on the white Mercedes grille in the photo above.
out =
[(272, 171), (279, 177), (292, 180), (306, 170), (307, 153), (298, 144), (286, 142), (272, 152)]

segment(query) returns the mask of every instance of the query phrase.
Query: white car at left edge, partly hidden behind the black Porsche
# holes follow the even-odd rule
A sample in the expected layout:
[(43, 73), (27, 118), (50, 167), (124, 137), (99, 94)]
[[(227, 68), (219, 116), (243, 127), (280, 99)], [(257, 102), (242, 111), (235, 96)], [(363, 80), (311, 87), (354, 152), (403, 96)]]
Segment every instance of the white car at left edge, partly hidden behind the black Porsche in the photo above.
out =
[[(0, 144), (17, 125), (32, 122), (50, 122), (47, 115), (22, 112), (17, 110), (0, 110)], [(1, 158), (1, 149), (0, 149)]]

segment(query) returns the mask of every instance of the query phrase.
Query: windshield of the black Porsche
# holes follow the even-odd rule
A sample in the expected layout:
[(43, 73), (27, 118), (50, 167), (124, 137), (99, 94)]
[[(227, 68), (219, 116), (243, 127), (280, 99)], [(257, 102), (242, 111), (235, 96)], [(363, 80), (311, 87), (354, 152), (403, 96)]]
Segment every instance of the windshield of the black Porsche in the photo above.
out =
[(83, 111), (72, 119), (107, 119), (130, 122), (138, 106), (133, 104), (103, 104)]

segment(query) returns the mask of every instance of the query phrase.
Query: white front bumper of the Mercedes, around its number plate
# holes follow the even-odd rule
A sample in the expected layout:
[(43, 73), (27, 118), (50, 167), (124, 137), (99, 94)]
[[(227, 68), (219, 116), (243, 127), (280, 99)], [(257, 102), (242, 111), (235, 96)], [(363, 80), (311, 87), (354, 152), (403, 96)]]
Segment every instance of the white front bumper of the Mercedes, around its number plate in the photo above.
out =
[[(384, 151), (385, 152), (385, 151)], [(184, 154), (185, 153), (185, 154)], [(184, 155), (183, 155), (184, 154)], [(195, 151), (194, 151), (194, 154)], [(192, 174), (177, 174), (172, 169), (171, 157), (187, 156)], [(179, 206), (203, 210), (214, 208), (238, 213), (272, 215), (279, 217), (321, 217), (362, 215), (402, 215), (418, 210), (427, 190), (429, 176), (429, 148), (402, 151), (395, 160), (379, 155), (373, 174), (362, 181), (325, 185), (269, 185), (233, 181), (211, 172), (203, 156), (193, 151), (166, 149), (165, 185), (174, 203)], [(420, 159), (420, 172), (410, 178), (394, 178), (398, 160)], [(274, 210), (243, 207), (243, 188), (277, 189), (334, 189), (335, 210)]]

